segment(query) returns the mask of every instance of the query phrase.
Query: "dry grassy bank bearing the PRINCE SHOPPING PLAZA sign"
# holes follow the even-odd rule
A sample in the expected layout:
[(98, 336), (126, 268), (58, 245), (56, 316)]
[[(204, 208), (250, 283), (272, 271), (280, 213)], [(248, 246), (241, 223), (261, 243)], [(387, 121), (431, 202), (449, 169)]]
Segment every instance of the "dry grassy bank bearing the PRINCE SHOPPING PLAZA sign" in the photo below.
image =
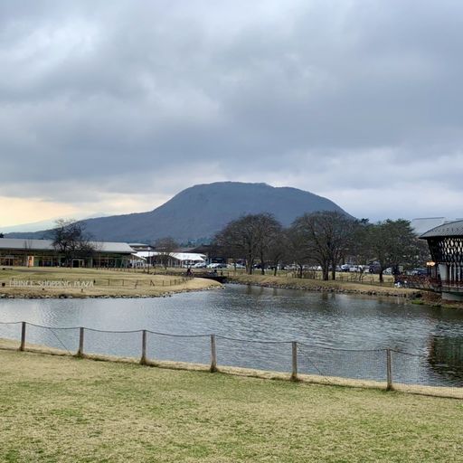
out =
[(183, 274), (153, 275), (134, 270), (25, 268), (0, 269), (0, 295), (27, 298), (156, 297), (221, 285)]

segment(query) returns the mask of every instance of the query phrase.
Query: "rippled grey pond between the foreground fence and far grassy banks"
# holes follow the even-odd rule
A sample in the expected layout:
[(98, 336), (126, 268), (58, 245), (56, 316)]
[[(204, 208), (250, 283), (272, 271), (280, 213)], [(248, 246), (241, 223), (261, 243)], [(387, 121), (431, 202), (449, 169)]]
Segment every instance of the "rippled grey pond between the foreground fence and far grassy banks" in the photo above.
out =
[[(148, 356), (210, 362), (210, 334), (217, 335), (218, 364), (290, 371), (298, 341), (301, 373), (385, 380), (390, 348), (394, 380), (463, 386), (463, 310), (405, 304), (392, 298), (358, 298), (279, 288), (227, 285), (170, 298), (1, 299), (0, 337), (75, 352), (78, 326), (85, 351), (139, 356), (147, 329)], [(44, 329), (76, 327), (75, 329)], [(171, 335), (204, 335), (194, 337)], [(248, 343), (245, 341), (254, 341)], [(256, 343), (255, 341), (261, 341)], [(267, 343), (275, 341), (275, 343)]]

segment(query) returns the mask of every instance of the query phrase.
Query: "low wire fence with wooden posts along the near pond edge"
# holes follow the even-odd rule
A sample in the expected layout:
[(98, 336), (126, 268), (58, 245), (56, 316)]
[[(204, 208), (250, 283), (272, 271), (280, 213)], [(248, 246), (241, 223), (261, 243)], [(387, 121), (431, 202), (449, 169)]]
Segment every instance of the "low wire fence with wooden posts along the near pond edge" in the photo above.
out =
[[(241, 339), (225, 335), (175, 335), (151, 330), (109, 331), (0, 322), (0, 347), (54, 354), (117, 356), (141, 364), (201, 364), (286, 373), (293, 380), (359, 385), (463, 398), (463, 347), (445, 357), (396, 349), (354, 350), (299, 341)], [(52, 349), (52, 350), (50, 350)], [(193, 365), (194, 366), (194, 365)], [(232, 373), (232, 372), (231, 372)]]

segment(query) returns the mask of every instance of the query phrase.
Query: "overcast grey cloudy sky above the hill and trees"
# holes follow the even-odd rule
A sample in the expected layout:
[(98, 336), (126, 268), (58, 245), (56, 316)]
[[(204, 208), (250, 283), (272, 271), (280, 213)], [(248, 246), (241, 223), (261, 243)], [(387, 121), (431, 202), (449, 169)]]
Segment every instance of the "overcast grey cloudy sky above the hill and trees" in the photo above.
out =
[(0, 227), (294, 186), (462, 217), (463, 2), (0, 3)]

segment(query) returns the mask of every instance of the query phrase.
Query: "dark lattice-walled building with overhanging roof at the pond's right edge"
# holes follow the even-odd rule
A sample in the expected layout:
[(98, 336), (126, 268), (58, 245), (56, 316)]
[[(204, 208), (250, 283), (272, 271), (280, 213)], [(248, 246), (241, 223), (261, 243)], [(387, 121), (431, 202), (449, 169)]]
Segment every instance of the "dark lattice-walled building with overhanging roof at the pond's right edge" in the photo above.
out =
[(446, 222), (420, 236), (428, 241), (430, 283), (447, 300), (463, 300), (463, 220)]

